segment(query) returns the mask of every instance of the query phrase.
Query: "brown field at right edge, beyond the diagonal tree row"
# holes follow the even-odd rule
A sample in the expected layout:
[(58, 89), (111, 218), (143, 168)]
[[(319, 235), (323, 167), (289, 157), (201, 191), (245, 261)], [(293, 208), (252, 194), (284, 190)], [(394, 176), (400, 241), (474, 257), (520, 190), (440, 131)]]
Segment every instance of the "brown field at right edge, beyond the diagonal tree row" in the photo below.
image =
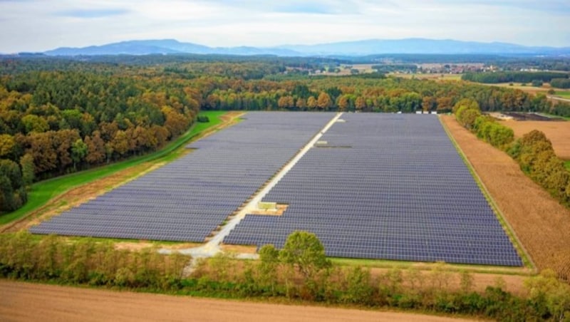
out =
[(570, 122), (541, 122), (541, 121), (505, 121), (504, 125), (512, 128), (514, 136), (522, 137), (532, 130), (540, 130), (546, 134), (554, 147), (556, 155), (561, 159), (570, 160)]

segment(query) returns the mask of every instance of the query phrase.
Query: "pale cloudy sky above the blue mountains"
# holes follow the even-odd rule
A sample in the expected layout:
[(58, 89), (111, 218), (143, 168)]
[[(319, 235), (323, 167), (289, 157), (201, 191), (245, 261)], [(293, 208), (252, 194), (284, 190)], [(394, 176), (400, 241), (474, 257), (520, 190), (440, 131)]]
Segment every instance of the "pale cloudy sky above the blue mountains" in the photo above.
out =
[(0, 53), (135, 39), (206, 46), (432, 38), (570, 47), (569, 0), (0, 0)]

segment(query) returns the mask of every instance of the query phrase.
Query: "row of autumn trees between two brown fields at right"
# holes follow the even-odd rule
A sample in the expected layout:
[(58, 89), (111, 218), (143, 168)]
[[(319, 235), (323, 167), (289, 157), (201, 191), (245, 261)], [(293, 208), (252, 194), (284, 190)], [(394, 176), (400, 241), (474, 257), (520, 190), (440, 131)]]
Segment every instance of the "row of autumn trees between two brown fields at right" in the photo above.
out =
[(539, 130), (532, 130), (514, 140), (511, 128), (482, 115), (473, 100), (462, 100), (454, 107), (457, 121), (467, 130), (516, 160), (522, 171), (546, 189), (552, 197), (570, 207), (570, 172), (556, 156), (550, 140)]

